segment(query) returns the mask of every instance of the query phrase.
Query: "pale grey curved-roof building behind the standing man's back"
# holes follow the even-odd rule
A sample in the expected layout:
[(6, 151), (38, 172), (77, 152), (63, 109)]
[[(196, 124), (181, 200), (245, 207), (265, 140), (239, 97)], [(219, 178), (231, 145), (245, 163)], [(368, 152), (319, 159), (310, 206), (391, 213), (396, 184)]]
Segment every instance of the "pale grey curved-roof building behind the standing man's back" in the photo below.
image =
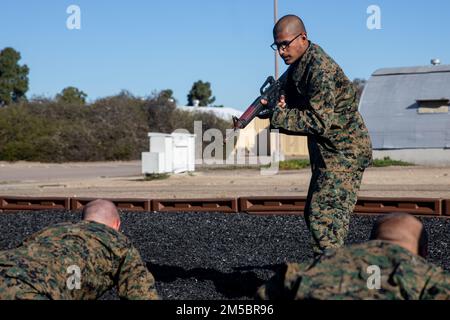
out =
[(359, 110), (374, 157), (417, 164), (450, 164), (450, 65), (380, 69)]

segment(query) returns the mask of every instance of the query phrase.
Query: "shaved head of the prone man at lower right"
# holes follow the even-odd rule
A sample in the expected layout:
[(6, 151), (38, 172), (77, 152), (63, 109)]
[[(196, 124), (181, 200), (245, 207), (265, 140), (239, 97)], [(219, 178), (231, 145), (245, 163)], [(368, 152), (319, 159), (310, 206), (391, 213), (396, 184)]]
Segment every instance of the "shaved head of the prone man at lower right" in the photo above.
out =
[(398, 244), (422, 257), (428, 253), (428, 235), (422, 222), (407, 213), (392, 213), (380, 218), (370, 238)]

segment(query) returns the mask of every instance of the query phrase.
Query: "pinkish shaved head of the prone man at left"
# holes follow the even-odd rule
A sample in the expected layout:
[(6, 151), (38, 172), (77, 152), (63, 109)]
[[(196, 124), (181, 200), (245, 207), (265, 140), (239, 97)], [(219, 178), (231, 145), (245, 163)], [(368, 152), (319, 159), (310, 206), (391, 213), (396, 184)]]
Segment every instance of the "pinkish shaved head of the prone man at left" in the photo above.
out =
[(89, 202), (83, 208), (83, 220), (102, 223), (119, 231), (120, 216), (114, 203), (98, 199)]

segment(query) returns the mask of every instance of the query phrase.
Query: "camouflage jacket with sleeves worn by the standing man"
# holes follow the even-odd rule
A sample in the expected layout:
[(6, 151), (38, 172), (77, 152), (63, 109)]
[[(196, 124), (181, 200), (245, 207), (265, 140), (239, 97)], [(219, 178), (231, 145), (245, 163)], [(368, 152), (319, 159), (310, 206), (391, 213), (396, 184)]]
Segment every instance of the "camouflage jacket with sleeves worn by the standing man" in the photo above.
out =
[(371, 164), (372, 144), (356, 89), (321, 47), (310, 42), (289, 67), (284, 91), (287, 107), (275, 109), (271, 126), (307, 135), (313, 168), (354, 171)]

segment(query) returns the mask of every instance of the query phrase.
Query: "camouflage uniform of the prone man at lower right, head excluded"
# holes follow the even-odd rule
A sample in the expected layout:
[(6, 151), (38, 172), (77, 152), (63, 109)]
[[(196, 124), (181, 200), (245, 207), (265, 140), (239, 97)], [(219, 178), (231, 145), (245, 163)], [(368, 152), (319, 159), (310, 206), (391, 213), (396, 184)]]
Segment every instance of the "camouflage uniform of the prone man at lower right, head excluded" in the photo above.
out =
[[(369, 266), (380, 268), (379, 289)], [(327, 250), (312, 264), (287, 264), (259, 288), (258, 298), (449, 300), (450, 274), (399, 245), (374, 240)]]

